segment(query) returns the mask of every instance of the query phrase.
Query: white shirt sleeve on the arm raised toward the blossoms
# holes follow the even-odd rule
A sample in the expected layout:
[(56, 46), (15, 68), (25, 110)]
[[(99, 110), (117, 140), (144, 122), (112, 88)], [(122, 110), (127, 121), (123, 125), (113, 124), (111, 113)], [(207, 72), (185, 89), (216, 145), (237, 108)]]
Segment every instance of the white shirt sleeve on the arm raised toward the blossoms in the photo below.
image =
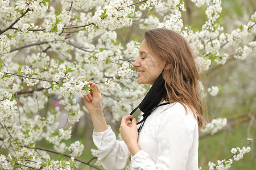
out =
[(108, 129), (102, 132), (93, 131), (93, 142), (98, 148), (98, 160), (105, 169), (123, 169), (130, 158), (130, 152), (124, 141), (118, 141), (114, 132)]

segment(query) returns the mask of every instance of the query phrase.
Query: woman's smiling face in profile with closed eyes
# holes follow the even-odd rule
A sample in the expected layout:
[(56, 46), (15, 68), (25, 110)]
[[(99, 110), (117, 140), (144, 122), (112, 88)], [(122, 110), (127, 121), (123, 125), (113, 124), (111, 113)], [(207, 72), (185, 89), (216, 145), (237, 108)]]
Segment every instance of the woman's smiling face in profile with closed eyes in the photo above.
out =
[(159, 74), (162, 73), (165, 63), (148, 49), (146, 40), (143, 40), (139, 48), (139, 56), (133, 63), (133, 66), (137, 67), (139, 71), (137, 82), (139, 84), (154, 84)]

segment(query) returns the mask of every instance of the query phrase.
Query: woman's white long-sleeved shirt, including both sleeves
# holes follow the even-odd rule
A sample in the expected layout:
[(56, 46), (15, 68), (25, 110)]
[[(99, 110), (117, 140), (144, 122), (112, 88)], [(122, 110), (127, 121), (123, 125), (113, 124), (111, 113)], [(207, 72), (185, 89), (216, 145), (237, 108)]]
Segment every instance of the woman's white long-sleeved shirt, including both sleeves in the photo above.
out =
[(130, 157), (131, 169), (198, 169), (197, 120), (189, 109), (186, 114), (180, 103), (162, 105), (152, 111), (139, 133), (141, 151), (134, 156), (125, 142), (117, 141), (109, 125), (106, 131), (94, 132), (93, 141), (105, 169), (123, 169)]

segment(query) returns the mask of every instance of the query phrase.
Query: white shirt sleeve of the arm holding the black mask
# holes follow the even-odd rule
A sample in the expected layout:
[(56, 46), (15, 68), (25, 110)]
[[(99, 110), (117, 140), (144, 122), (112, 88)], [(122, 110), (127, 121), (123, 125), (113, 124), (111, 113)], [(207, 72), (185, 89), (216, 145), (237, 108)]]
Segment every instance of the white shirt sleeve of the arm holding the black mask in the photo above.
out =
[(164, 113), (156, 134), (158, 161), (155, 163), (145, 151), (139, 151), (131, 158), (134, 169), (186, 169), (197, 123), (192, 115), (185, 113), (182, 105), (172, 107)]

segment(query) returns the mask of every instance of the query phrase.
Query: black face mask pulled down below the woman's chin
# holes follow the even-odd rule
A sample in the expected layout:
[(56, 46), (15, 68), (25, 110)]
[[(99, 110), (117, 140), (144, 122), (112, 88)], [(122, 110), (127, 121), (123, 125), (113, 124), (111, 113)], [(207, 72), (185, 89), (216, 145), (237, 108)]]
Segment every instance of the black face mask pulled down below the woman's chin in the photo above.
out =
[[(164, 87), (164, 83), (166, 80), (163, 79), (163, 71), (155, 80), (155, 83), (152, 85), (150, 90), (147, 92), (147, 95), (142, 100), (141, 104), (135, 108), (130, 115), (132, 115), (138, 108), (144, 113), (142, 114), (143, 119), (137, 123), (141, 124), (138, 129), (138, 133), (141, 131), (144, 122), (146, 121), (147, 117), (151, 114), (152, 110), (155, 107), (159, 107), (160, 105), (166, 105), (169, 103), (160, 104), (160, 101), (163, 99), (164, 94), (166, 93), (166, 88)], [(131, 120), (131, 119), (130, 119)]]

